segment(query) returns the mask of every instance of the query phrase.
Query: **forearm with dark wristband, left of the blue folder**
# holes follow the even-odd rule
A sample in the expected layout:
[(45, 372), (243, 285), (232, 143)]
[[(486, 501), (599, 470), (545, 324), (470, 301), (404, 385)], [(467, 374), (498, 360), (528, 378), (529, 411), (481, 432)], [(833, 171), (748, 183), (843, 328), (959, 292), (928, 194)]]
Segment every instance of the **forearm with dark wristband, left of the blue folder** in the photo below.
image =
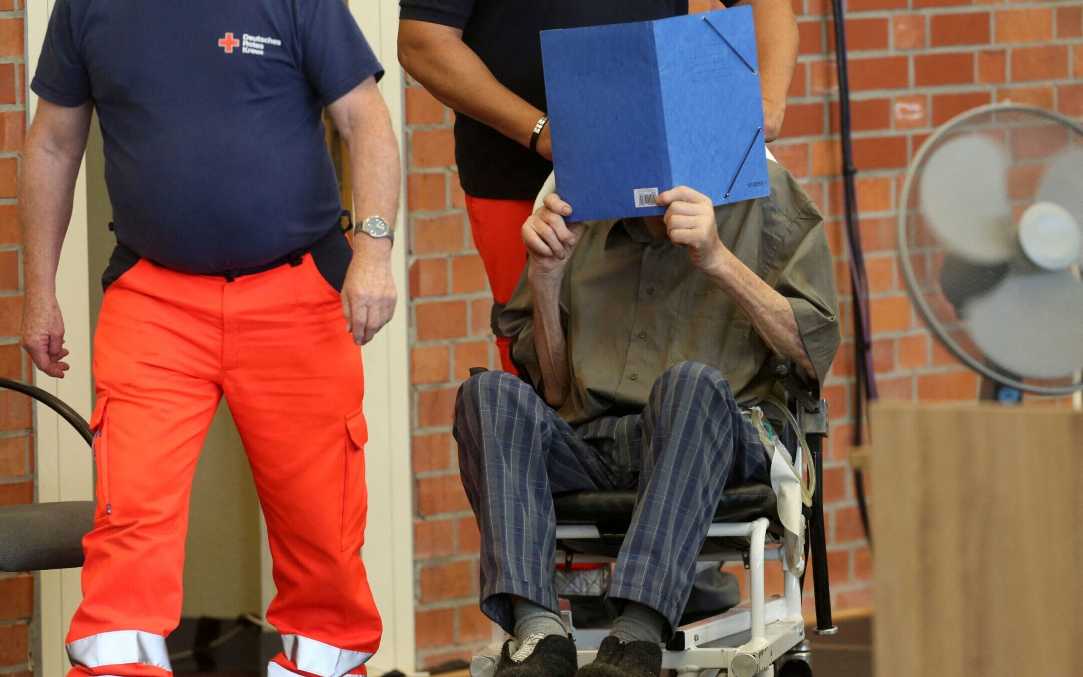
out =
[(453, 110), (530, 144), (542, 110), (500, 84), (459, 31), (408, 19), (401, 25), (399, 60), (415, 80)]

